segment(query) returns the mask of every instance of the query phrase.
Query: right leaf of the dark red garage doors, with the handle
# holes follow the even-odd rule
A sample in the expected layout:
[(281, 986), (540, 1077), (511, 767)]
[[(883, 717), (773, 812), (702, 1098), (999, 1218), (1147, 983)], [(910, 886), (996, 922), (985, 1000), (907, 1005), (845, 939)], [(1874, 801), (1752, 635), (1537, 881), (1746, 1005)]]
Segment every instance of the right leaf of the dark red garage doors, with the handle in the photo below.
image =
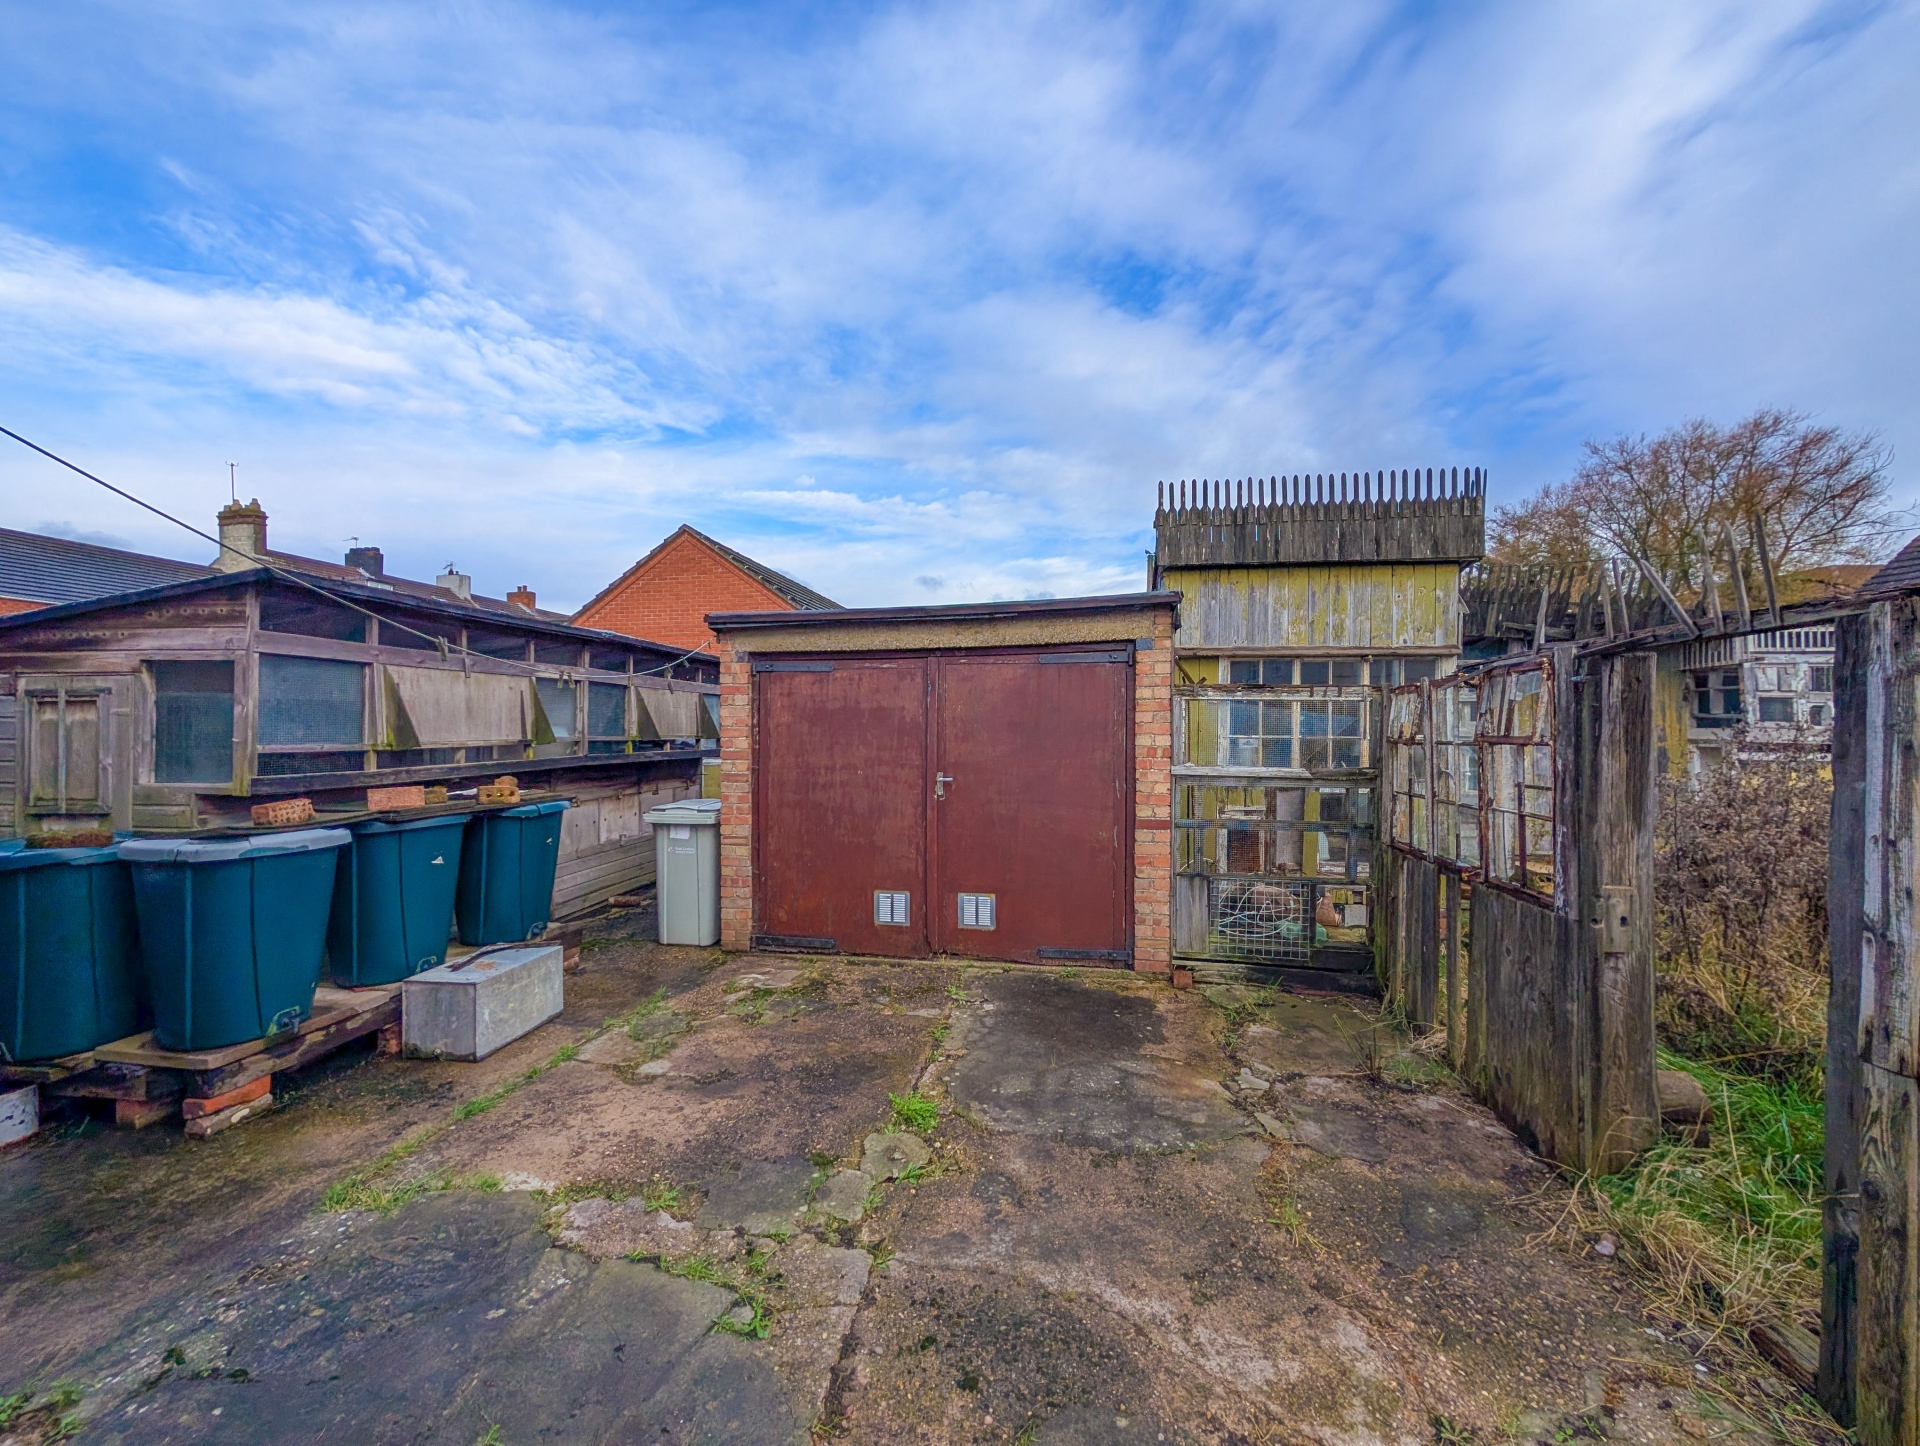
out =
[(933, 947), (1127, 964), (1129, 655), (983, 653), (933, 666)]

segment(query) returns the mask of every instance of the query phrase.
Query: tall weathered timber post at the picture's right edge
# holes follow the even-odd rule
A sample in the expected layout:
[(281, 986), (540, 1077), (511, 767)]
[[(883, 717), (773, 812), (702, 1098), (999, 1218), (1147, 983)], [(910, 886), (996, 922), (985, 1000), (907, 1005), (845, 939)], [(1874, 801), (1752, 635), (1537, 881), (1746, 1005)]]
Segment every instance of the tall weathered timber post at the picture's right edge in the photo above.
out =
[(1920, 599), (1839, 620), (1820, 1383), (1860, 1446), (1920, 1442)]

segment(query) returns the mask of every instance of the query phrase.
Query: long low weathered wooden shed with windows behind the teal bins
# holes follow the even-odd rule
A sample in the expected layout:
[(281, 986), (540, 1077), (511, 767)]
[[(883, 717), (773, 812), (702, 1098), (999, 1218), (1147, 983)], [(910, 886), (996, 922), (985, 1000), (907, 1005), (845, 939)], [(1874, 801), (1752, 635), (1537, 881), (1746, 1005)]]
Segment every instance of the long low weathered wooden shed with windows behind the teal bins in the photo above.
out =
[(576, 805), (563, 916), (653, 878), (641, 814), (699, 789), (718, 691), (705, 655), (271, 566), (44, 607), (0, 618), (0, 837), (513, 774)]

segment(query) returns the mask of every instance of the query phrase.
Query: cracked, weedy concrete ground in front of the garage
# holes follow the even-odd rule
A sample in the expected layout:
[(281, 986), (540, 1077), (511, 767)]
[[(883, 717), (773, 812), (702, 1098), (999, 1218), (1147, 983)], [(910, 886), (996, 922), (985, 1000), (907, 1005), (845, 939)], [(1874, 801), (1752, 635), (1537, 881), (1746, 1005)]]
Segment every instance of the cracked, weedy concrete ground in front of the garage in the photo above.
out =
[(493, 1060), (0, 1156), (0, 1442), (1761, 1438), (1352, 1002), (643, 914), (566, 991)]

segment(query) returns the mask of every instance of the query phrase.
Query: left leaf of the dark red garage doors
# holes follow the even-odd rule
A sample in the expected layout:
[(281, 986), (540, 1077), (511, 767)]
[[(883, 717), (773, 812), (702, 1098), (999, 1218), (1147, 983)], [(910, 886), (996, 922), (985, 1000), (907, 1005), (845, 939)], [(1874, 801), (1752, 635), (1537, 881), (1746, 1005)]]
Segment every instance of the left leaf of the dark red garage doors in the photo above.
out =
[(925, 954), (927, 661), (755, 674), (756, 939)]

